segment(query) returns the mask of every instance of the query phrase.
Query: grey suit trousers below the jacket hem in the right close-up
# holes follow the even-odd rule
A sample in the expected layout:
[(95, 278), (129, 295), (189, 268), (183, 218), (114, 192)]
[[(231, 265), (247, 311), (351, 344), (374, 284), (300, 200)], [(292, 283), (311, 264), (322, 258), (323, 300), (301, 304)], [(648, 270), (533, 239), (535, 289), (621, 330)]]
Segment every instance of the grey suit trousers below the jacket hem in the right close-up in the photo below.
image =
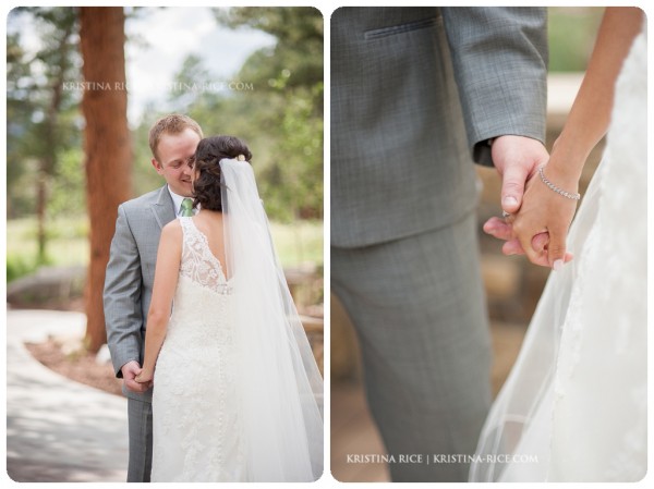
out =
[[(359, 335), (393, 481), (468, 478), (464, 456), (474, 453), (491, 405), (475, 221), (471, 212), (432, 232), (331, 248), (331, 286)], [(402, 454), (423, 462), (401, 463)]]

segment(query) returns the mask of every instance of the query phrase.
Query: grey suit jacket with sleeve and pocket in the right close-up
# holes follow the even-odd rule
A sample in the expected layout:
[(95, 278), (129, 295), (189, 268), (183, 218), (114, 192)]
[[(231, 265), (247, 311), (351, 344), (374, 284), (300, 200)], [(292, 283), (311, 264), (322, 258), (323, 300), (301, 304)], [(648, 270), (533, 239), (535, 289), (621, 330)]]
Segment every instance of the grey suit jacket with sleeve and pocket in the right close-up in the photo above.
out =
[(545, 24), (540, 8), (334, 12), (332, 245), (452, 223), (476, 205), (488, 138), (545, 140)]

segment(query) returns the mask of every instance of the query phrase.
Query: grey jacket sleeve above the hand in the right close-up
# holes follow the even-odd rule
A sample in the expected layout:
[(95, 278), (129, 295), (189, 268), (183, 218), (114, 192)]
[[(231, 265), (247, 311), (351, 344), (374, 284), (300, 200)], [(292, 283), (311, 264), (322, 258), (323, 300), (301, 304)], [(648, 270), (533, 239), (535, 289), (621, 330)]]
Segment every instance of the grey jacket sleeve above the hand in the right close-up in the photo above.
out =
[(493, 164), (488, 138), (545, 142), (545, 8), (443, 8), (473, 159)]

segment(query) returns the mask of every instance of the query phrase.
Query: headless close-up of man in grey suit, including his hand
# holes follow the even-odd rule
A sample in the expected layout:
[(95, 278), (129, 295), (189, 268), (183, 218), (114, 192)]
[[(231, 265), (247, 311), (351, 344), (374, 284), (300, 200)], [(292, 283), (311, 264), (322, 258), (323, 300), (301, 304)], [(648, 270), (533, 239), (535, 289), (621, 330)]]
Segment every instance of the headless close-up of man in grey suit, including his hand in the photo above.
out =
[(331, 16), (331, 286), (396, 481), (467, 480), (491, 404), (473, 161), (517, 211), (547, 160), (546, 69), (545, 9)]

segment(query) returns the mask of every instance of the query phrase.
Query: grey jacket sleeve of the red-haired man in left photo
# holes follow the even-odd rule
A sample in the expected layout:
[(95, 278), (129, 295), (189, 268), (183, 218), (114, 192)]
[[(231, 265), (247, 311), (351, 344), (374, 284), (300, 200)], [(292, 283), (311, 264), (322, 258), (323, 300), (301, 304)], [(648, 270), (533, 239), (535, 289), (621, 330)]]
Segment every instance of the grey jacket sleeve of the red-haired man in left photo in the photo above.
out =
[(141, 259), (124, 207), (118, 208), (116, 234), (105, 278), (107, 344), (117, 377), (130, 360), (141, 363), (143, 313)]

